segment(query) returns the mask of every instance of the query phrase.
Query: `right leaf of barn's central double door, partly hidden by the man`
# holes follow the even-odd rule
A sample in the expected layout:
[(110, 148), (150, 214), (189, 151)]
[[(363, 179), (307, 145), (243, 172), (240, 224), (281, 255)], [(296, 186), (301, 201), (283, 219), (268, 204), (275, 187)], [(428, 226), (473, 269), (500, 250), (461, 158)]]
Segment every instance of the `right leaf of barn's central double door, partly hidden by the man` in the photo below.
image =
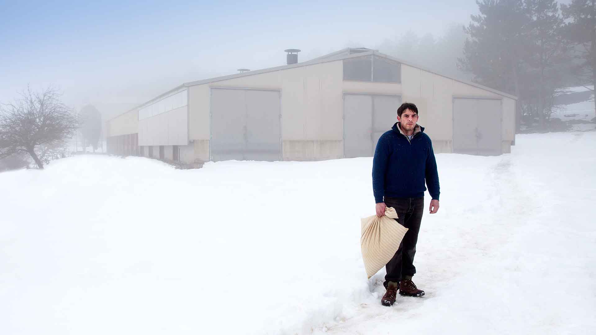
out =
[(399, 95), (373, 95), (373, 154), (378, 138), (398, 122)]

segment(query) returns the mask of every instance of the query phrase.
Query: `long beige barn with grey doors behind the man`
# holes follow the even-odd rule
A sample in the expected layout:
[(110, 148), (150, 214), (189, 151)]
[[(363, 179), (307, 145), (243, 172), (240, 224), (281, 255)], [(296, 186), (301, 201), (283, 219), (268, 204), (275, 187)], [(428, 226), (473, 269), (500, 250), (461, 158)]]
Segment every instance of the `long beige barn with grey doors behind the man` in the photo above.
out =
[(516, 97), (366, 48), (184, 83), (107, 121), (108, 153), (201, 163), (373, 156), (405, 101), (436, 153), (509, 153)]

